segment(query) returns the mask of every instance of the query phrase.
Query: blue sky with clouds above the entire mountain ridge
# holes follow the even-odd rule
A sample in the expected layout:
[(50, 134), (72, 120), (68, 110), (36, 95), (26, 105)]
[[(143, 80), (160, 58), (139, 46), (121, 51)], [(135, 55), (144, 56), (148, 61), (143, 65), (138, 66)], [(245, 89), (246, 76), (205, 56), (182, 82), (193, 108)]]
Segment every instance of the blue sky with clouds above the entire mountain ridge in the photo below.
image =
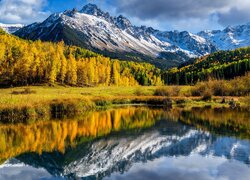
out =
[(87, 3), (160, 30), (198, 32), (250, 21), (249, 0), (0, 0), (0, 22), (30, 24)]

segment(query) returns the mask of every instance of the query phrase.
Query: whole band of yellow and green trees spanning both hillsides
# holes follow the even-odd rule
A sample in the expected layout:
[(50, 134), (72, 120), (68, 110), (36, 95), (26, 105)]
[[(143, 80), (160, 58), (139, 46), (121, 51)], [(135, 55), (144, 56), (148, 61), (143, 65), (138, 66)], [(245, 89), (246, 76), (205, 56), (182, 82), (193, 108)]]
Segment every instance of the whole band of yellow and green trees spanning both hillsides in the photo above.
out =
[(0, 87), (193, 85), (233, 79), (250, 70), (250, 47), (219, 51), (166, 71), (148, 63), (113, 60), (63, 42), (22, 40), (0, 29)]

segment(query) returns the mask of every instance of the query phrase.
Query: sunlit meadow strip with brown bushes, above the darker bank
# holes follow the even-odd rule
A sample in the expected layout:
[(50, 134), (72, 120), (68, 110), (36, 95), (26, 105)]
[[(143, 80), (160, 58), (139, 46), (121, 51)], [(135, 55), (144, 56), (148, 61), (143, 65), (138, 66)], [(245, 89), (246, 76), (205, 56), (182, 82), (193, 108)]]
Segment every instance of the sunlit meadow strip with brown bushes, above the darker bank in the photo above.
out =
[[(13, 92), (22, 92), (25, 89), (31, 91), (30, 94), (13, 94)], [(198, 101), (199, 97), (192, 97), (192, 86), (142, 86), (142, 87), (63, 87), (63, 86), (28, 86), (0, 89), (0, 109), (3, 108), (21, 108), (27, 106), (36, 106), (48, 104), (52, 101), (65, 100), (114, 100), (114, 99), (156, 99), (170, 97), (172, 99), (184, 99), (186, 104), (196, 104), (202, 106), (204, 104), (218, 104), (221, 102), (221, 97), (213, 96), (213, 101), (202, 102)], [(163, 91), (161, 94), (156, 94), (157, 91)], [(228, 97), (227, 99), (230, 99)], [(244, 105), (248, 105), (249, 97), (233, 97), (241, 101)], [(194, 101), (195, 100), (195, 101)]]

